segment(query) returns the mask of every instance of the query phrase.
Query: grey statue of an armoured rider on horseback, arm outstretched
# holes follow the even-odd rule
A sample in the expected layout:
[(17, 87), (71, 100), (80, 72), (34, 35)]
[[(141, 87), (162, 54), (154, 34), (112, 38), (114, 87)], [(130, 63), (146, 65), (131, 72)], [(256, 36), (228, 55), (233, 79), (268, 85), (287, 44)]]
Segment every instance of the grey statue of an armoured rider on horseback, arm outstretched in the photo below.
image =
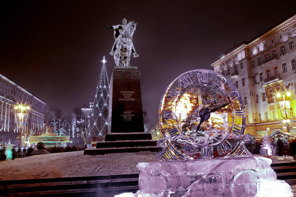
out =
[(122, 25), (106, 27), (106, 29), (114, 29), (115, 42), (109, 54), (114, 57), (116, 66), (130, 66), (131, 52), (133, 52), (134, 58), (139, 56), (133, 47), (133, 32), (136, 30), (137, 24), (134, 21), (126, 24), (124, 18)]

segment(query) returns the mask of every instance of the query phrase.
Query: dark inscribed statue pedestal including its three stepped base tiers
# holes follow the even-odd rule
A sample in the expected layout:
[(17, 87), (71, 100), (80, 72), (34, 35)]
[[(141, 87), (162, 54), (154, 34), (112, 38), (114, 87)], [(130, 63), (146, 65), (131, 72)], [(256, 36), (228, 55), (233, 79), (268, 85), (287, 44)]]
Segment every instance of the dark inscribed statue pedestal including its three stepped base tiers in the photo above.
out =
[(109, 125), (105, 141), (83, 154), (159, 152), (162, 148), (144, 133), (140, 71), (136, 66), (115, 66), (110, 80)]

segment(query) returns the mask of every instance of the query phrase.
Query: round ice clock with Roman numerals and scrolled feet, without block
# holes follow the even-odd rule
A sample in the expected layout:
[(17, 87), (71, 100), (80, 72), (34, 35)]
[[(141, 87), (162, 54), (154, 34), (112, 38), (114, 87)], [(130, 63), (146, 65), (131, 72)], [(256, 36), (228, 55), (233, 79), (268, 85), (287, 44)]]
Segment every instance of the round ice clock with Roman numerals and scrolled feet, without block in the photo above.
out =
[(244, 146), (244, 101), (223, 75), (193, 70), (178, 76), (163, 93), (159, 122), (164, 139), (160, 161), (252, 155)]

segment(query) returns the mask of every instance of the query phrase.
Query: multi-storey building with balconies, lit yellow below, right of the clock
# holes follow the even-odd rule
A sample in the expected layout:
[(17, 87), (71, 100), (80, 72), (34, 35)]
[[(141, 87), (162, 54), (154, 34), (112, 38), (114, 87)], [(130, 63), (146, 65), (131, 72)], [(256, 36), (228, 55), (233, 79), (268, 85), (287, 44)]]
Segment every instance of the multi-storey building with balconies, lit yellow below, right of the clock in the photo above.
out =
[[(257, 37), (236, 45), (211, 64), (214, 71), (223, 74), (237, 87), (244, 100), (245, 133), (296, 133), (295, 44), (296, 13)], [(284, 99), (289, 106), (288, 103), (281, 105)], [(283, 123), (284, 119), (290, 123)]]

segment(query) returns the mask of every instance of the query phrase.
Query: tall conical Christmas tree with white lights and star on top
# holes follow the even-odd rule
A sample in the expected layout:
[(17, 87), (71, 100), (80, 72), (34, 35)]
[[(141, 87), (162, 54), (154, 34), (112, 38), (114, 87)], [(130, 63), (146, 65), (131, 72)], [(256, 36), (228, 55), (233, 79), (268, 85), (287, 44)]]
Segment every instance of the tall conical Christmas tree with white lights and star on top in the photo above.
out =
[(91, 113), (90, 131), (92, 137), (104, 136), (108, 131), (108, 108), (109, 108), (109, 79), (104, 59), (103, 66), (96, 87), (96, 95), (94, 98), (94, 108)]

